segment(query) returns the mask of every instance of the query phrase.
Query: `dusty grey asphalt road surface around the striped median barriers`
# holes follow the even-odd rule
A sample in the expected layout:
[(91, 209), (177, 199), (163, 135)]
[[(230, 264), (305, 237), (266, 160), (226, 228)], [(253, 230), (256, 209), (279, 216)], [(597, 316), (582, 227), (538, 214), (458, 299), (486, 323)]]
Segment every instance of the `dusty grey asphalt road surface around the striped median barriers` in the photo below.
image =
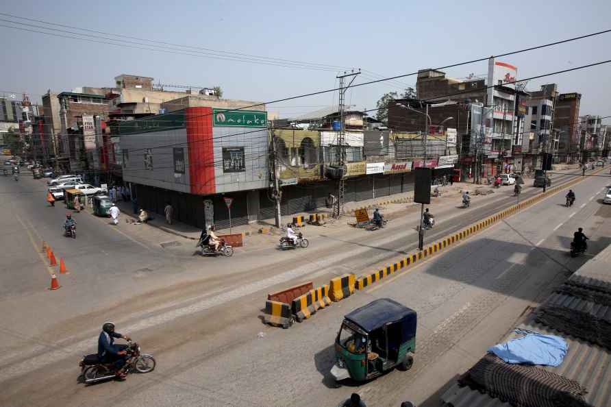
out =
[[(479, 313), (468, 321), (473, 325), (503, 297), (526, 284), (527, 278), (534, 278), (525, 276), (533, 269), (540, 278), (530, 283), (545, 288), (558, 275), (558, 261), (577, 267), (581, 260), (567, 260), (564, 249), (554, 246), (567, 246), (571, 221), (553, 228), (558, 219), (570, 215), (568, 211), (575, 212), (570, 219), (583, 218), (585, 223), (594, 222), (594, 227), (594, 219), (601, 216), (597, 214), (600, 204), (580, 197), (598, 193), (606, 182), (605, 178), (588, 178), (574, 187), (577, 203), (573, 208), (560, 206), (563, 199), (559, 195), (546, 199), (392, 282), (334, 304), (290, 330), (279, 330), (258, 319), (265, 293), (291, 282), (326, 282), (345, 271), (360, 273), (401, 256), (416, 241), (416, 232), (406, 225), (413, 225), (419, 213), (414, 210), (393, 220), (384, 235), (331, 228), (307, 251), (280, 254), (261, 247), (249, 252), (247, 261), (240, 260), (236, 251), (228, 268), (223, 262), (227, 259), (192, 258), (164, 250), (125, 225), (115, 228), (84, 213), (75, 215), (77, 240), (63, 238), (60, 225), (65, 210), (45, 208), (41, 204), (44, 184), (23, 178), (18, 183), (0, 178), (0, 205), (5, 209), (0, 221), (11, 231), (10, 238), (3, 234), (2, 240), (8, 260), (0, 275), (0, 304), (14, 309), (2, 315), (0, 330), (0, 381), (9, 389), (0, 395), (0, 405), (8, 406), (109, 402), (125, 406), (330, 406), (351, 391), (382, 402), (370, 405), (393, 405), (403, 397), (401, 387), (425, 375), (425, 366), (442, 357), (445, 341), (460, 335), (456, 327), (443, 330), (452, 325), (456, 312), (464, 310), (455, 317), (464, 319), (463, 314), (470, 315), (477, 304)], [(482, 198), (481, 205), (474, 199), (469, 210), (451, 210), (456, 203), (439, 204), (432, 209), (438, 216), (433, 233), (447, 234), (499, 210), (509, 204), (502, 194)], [(525, 191), (523, 197), (528, 194)], [(540, 239), (545, 243), (560, 234), (566, 236), (553, 243), (547, 255), (540, 249), (537, 255), (529, 254)], [(49, 284), (49, 274), (34, 251), (40, 241), (37, 238), (45, 238), (56, 253), (70, 259), (68, 268), (74, 271), (61, 277), (59, 291), (41, 293), (40, 287)], [(525, 290), (521, 299), (530, 301), (540, 294), (540, 290), (532, 291)], [(496, 296), (486, 299), (490, 295), (485, 293)], [(419, 311), (420, 345), (414, 372), (392, 372), (355, 388), (329, 388), (332, 341), (342, 315), (385, 296)], [(488, 301), (484, 307), (475, 301), (482, 296)], [(136, 336), (145, 351), (153, 352), (158, 369), (148, 375), (132, 375), (123, 383), (76, 384), (79, 356), (95, 351), (99, 325), (105, 319), (118, 321), (119, 332)], [(469, 323), (461, 325), (462, 329)], [(32, 393), (32, 384), (38, 386), (36, 393)], [(419, 397), (423, 400), (427, 395)]]

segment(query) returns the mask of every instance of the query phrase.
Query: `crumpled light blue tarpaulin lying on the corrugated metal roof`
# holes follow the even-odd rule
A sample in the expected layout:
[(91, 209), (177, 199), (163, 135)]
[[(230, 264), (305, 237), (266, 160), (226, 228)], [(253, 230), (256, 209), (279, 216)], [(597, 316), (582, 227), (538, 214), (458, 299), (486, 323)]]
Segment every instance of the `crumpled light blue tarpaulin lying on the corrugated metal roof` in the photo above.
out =
[(558, 366), (562, 363), (569, 345), (560, 336), (529, 332), (526, 336), (499, 343), (489, 352), (512, 364)]

